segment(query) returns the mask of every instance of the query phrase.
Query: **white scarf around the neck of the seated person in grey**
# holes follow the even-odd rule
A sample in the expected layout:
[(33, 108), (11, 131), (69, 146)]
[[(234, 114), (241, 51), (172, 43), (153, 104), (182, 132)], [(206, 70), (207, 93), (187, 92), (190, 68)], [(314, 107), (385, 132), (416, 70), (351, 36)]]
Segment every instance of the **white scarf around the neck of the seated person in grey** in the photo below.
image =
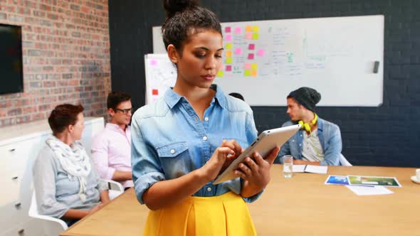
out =
[(61, 167), (67, 171), (68, 179), (77, 178), (80, 183), (79, 198), (82, 203), (86, 200), (86, 184), (90, 173), (90, 159), (80, 142), (75, 141), (67, 145), (56, 137), (46, 140), (48, 146), (53, 149)]

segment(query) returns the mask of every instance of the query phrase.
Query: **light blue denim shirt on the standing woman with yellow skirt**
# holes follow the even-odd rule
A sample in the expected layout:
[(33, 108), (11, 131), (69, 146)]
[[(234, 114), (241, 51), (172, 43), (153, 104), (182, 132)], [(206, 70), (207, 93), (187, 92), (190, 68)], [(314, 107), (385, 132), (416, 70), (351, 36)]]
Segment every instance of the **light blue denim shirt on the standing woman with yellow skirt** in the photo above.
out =
[[(178, 178), (204, 166), (223, 139), (235, 139), (246, 149), (257, 137), (251, 107), (226, 96), (212, 85), (216, 95), (201, 122), (185, 97), (172, 89), (157, 102), (137, 109), (132, 117), (132, 177), (137, 200), (157, 181)], [(206, 183), (194, 196), (211, 197), (228, 191), (241, 193), (241, 178)], [(246, 202), (256, 200), (261, 193)]]

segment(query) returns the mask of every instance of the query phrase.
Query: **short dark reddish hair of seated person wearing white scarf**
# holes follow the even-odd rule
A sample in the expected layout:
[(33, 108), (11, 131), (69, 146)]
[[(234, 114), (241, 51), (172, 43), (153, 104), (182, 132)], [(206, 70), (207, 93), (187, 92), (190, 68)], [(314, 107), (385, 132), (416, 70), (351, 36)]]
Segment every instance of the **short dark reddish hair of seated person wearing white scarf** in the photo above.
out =
[(53, 134), (63, 132), (70, 124), (75, 125), (78, 122), (78, 114), (84, 109), (81, 104), (61, 104), (55, 107), (48, 117), (48, 124), (53, 130)]

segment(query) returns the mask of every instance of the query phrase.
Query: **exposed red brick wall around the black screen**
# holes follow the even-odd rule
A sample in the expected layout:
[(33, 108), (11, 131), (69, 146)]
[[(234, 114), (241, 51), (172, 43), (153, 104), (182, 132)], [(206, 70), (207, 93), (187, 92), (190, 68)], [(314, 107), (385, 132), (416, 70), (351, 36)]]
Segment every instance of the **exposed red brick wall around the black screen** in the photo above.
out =
[(83, 104), (85, 116), (105, 115), (111, 90), (107, 5), (0, 0), (0, 23), (22, 26), (23, 41), (23, 92), (0, 95), (0, 127), (46, 119), (65, 102)]

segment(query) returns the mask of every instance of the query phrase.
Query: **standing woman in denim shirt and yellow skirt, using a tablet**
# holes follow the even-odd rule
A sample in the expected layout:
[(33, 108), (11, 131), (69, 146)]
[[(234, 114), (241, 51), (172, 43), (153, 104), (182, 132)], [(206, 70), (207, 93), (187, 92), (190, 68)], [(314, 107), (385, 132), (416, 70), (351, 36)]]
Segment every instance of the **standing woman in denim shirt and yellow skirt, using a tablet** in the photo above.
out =
[(214, 178), (256, 139), (251, 108), (212, 85), (222, 63), (221, 25), (196, 1), (164, 1), (162, 26), (177, 82), (132, 118), (132, 175), (151, 210), (145, 235), (256, 235), (245, 202), (270, 181), (278, 147), (246, 158), (241, 178)]

